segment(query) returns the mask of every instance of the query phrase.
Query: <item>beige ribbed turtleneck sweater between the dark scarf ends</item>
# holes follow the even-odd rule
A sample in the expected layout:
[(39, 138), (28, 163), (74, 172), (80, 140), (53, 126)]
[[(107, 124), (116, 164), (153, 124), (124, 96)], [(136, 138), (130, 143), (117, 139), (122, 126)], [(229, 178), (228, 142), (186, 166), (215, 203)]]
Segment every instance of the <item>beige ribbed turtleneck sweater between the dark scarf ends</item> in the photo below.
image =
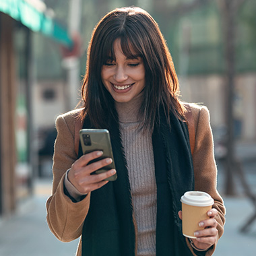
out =
[(137, 255), (156, 255), (156, 178), (152, 136), (139, 131), (141, 100), (116, 103), (127, 160), (133, 212), (137, 224)]

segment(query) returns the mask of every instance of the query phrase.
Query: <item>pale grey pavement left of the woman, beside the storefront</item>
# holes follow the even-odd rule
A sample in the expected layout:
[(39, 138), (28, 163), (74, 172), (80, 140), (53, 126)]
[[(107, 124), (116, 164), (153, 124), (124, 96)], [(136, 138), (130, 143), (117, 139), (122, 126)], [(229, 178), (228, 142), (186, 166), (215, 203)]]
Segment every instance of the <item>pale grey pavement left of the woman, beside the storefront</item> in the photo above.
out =
[(16, 214), (0, 222), (0, 256), (71, 256), (78, 241), (62, 243), (46, 223), (46, 199), (51, 180), (36, 182), (34, 197), (27, 199)]

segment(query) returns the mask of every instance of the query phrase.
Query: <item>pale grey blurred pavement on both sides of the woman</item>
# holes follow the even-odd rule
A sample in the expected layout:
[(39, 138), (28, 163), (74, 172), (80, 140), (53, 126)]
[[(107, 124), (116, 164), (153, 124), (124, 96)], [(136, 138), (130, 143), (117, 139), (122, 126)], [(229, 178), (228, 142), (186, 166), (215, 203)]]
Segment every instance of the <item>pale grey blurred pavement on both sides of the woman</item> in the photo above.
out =
[[(0, 256), (75, 255), (78, 241), (61, 243), (46, 224), (45, 201), (50, 193), (49, 179), (37, 181), (34, 197), (23, 203), (17, 214), (1, 220)], [(214, 255), (255, 256), (256, 222), (248, 234), (238, 231), (253, 214), (251, 202), (245, 197), (226, 197), (224, 201), (227, 210), (225, 233)]]

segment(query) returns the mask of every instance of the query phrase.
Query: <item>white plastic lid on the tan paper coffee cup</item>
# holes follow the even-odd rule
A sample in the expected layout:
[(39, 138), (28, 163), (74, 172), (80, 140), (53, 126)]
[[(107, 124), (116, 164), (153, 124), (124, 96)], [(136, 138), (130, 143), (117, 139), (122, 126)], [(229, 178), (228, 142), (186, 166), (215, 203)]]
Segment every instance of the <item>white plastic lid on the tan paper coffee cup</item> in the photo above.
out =
[(193, 206), (210, 206), (214, 204), (214, 199), (205, 192), (187, 191), (181, 197), (181, 202)]

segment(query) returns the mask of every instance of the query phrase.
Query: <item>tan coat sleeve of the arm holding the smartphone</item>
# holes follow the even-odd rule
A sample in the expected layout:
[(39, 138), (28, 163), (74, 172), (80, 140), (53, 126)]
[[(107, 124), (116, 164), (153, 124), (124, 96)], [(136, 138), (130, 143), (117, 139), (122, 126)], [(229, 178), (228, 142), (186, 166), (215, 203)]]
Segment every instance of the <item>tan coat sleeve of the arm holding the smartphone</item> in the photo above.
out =
[(58, 133), (53, 156), (53, 193), (46, 201), (46, 220), (59, 240), (69, 242), (82, 234), (90, 205), (90, 193), (76, 203), (65, 195), (65, 173), (77, 160), (74, 149), (74, 119), (69, 115), (61, 115), (57, 118), (56, 128)]

